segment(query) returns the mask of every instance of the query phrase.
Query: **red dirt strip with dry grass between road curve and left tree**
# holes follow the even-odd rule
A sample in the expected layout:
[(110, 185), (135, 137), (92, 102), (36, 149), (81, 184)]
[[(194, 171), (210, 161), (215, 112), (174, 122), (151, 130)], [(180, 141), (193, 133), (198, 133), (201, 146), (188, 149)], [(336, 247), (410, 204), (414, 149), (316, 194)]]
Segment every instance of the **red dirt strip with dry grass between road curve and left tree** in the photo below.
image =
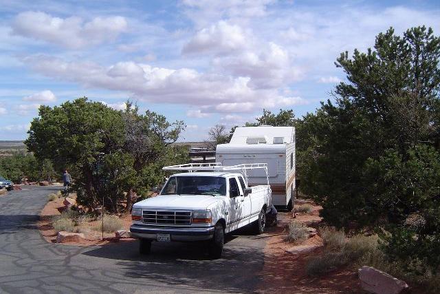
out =
[[(61, 213), (65, 209), (63, 201), (63, 197), (57, 198), (53, 201), (49, 201), (41, 210), (38, 226), (41, 235), (47, 242), (56, 243), (57, 233), (52, 227), (52, 218), (54, 218), (54, 216), (61, 216)], [(120, 219), (124, 224), (123, 229), (129, 230), (131, 225), (131, 215), (122, 216), (122, 218)], [(115, 238), (115, 233), (104, 233), (104, 239), (102, 239), (102, 233), (100, 231), (96, 231), (95, 229), (96, 227), (98, 227), (98, 222), (100, 221), (95, 220), (93, 222), (87, 222), (80, 225), (80, 232), (84, 233), (85, 235), (85, 240), (83, 242), (67, 242), (62, 244), (90, 246), (105, 245), (114, 242), (129, 242), (134, 240), (132, 238)]]

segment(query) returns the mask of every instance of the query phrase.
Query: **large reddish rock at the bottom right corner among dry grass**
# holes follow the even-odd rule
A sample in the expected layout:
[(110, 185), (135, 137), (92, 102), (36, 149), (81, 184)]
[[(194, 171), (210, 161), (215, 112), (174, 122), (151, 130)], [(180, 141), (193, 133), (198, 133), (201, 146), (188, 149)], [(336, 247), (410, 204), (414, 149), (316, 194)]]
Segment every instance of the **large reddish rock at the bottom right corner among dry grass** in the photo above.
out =
[(399, 294), (408, 289), (406, 282), (371, 266), (362, 266), (358, 273), (362, 288), (370, 293)]

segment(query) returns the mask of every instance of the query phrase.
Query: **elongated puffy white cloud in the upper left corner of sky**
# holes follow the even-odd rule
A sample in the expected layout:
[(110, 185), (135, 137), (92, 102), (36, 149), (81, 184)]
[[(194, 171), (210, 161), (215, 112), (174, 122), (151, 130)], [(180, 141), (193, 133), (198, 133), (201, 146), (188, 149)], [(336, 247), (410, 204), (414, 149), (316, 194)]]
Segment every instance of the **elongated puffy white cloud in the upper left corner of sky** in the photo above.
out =
[(19, 13), (12, 23), (14, 34), (72, 49), (113, 41), (126, 28), (124, 17), (95, 17), (85, 22), (80, 17), (61, 19), (34, 11)]

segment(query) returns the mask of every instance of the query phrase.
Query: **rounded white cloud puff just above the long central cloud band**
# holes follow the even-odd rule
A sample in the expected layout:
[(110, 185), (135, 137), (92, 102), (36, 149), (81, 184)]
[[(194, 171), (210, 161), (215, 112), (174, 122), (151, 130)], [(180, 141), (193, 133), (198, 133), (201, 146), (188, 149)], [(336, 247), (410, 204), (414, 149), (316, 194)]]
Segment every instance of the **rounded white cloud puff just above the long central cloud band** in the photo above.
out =
[(226, 21), (219, 21), (209, 28), (199, 30), (186, 43), (182, 53), (200, 54), (214, 52), (217, 54), (229, 53), (245, 47), (246, 37), (238, 25), (231, 25)]

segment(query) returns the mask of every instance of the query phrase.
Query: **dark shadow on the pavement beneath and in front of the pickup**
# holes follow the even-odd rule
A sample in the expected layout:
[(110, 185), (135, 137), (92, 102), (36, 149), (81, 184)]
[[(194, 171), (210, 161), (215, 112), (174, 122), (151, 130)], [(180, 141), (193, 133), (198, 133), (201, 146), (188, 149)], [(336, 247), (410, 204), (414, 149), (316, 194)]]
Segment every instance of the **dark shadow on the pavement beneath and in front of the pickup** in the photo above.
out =
[[(232, 241), (236, 236), (228, 238)], [(252, 246), (253, 242), (259, 241), (245, 238), (225, 244), (223, 258), (219, 260), (209, 258), (203, 243), (153, 242), (151, 254), (140, 255), (137, 240), (109, 244), (83, 254), (120, 260), (118, 267), (130, 278), (152, 279), (169, 286), (250, 293), (260, 282), (259, 273), (264, 265), (263, 250)]]

